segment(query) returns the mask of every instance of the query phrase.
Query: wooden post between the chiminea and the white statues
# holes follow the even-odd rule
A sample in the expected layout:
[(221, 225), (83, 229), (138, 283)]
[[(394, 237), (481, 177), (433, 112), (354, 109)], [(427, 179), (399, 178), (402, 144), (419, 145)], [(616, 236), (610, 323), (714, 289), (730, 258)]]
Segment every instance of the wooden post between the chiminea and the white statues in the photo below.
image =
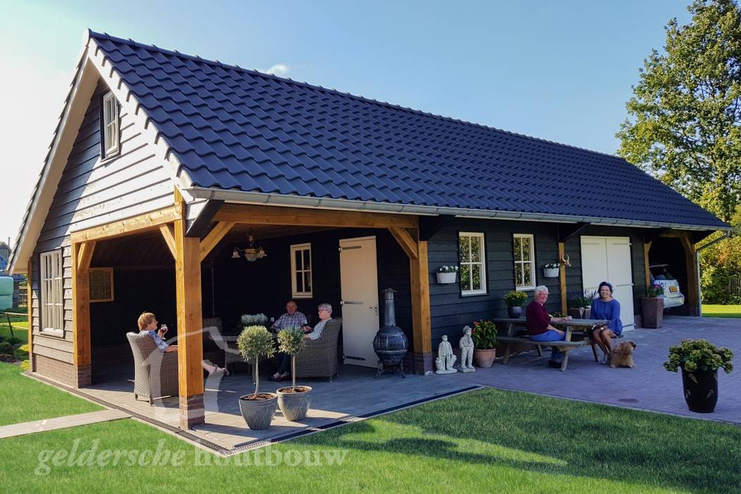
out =
[[(416, 232), (419, 235), (418, 232)], [(416, 258), (409, 259), (412, 302), (412, 339), (415, 363), (422, 373), (432, 371), (432, 326), (430, 318), (430, 273), (427, 242), (417, 237)]]

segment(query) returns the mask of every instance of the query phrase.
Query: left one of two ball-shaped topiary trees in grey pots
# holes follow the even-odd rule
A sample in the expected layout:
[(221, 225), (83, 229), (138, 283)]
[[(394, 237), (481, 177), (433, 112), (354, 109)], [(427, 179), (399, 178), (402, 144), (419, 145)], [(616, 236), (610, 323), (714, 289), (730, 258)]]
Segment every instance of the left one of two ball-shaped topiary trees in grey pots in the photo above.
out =
[(255, 393), (239, 397), (239, 411), (250, 429), (267, 429), (276, 413), (278, 397), (274, 393), (259, 393), (260, 356), (271, 357), (275, 353), (273, 336), (265, 326), (247, 326), (236, 340), (239, 353), (245, 361), (255, 363)]

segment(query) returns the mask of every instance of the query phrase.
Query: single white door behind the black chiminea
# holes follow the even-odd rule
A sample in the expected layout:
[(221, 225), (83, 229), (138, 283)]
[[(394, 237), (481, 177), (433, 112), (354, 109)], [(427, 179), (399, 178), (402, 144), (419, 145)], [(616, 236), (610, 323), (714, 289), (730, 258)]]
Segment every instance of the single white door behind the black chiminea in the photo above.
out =
[(373, 337), (379, 329), (376, 237), (339, 241), (342, 344), (345, 364), (376, 367)]

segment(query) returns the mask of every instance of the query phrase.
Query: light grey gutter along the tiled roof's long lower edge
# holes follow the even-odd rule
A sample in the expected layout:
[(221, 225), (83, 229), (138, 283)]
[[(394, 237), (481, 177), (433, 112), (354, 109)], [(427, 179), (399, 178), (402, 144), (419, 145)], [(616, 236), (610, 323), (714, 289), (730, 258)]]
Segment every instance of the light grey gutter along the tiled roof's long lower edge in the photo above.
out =
[(456, 216), (457, 218), (502, 219), (516, 221), (547, 221), (549, 223), (589, 223), (614, 227), (674, 228), (677, 230), (727, 230), (705, 225), (662, 223), (659, 221), (634, 221), (597, 216), (565, 216), (553, 214), (517, 213), (512, 211), (471, 210), (454, 207), (415, 206), (372, 201), (350, 201), (348, 199), (285, 196), (281, 194), (244, 192), (207, 187), (188, 187), (193, 198), (219, 199), (236, 204), (262, 204), (271, 206), (305, 207), (325, 210), (352, 210), (374, 213), (396, 213), (426, 216)]

